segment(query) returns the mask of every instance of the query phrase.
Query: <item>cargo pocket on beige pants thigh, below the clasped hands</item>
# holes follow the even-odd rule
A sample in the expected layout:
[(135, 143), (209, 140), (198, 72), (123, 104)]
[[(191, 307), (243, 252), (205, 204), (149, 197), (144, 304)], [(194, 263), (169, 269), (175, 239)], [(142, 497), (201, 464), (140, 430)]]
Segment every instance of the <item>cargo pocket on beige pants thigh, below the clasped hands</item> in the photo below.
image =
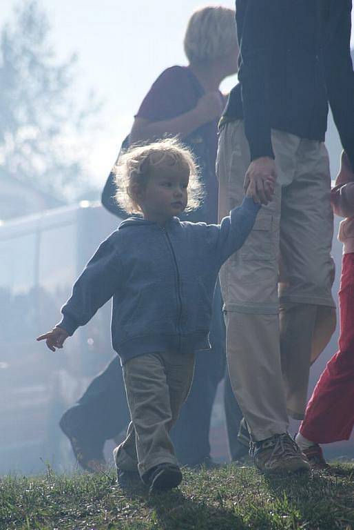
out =
[(274, 257), (273, 242), (273, 217), (259, 215), (249, 237), (240, 249), (243, 261), (269, 261)]

